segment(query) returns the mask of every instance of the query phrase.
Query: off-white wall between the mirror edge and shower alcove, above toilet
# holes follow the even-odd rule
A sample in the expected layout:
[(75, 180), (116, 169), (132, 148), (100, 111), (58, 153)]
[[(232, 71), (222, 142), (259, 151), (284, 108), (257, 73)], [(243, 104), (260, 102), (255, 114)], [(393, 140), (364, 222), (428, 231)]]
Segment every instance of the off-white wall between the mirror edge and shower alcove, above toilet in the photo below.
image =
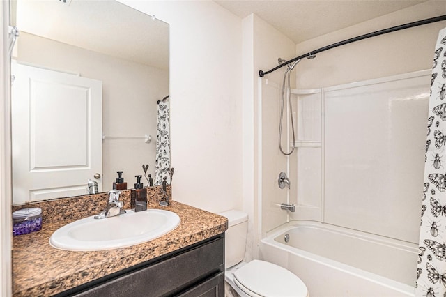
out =
[(120, 0), (170, 24), (176, 201), (242, 207), (242, 21), (212, 1)]

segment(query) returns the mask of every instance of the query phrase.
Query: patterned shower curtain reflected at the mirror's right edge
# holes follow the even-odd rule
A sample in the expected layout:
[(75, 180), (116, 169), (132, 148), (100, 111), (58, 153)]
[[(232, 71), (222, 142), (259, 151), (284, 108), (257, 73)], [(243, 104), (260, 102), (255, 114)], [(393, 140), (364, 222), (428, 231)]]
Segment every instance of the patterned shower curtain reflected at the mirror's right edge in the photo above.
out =
[(157, 108), (157, 135), (156, 135), (156, 160), (155, 181), (153, 185), (161, 185), (162, 178), (167, 176), (170, 183), (170, 125), (169, 102), (158, 103)]

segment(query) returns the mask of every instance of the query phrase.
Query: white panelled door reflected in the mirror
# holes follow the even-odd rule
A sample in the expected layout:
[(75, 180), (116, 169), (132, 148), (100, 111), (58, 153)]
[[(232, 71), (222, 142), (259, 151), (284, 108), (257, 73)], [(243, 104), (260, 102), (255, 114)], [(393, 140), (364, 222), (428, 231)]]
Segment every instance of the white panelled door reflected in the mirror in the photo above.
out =
[(13, 63), (13, 203), (102, 190), (102, 82)]

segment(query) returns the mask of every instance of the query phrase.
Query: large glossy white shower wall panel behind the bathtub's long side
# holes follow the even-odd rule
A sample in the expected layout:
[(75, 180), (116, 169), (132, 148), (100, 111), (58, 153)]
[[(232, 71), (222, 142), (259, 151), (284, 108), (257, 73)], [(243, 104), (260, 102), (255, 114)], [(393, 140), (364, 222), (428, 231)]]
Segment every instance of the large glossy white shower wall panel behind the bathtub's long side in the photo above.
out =
[(426, 70), (325, 89), (324, 222), (418, 241), (429, 86)]

